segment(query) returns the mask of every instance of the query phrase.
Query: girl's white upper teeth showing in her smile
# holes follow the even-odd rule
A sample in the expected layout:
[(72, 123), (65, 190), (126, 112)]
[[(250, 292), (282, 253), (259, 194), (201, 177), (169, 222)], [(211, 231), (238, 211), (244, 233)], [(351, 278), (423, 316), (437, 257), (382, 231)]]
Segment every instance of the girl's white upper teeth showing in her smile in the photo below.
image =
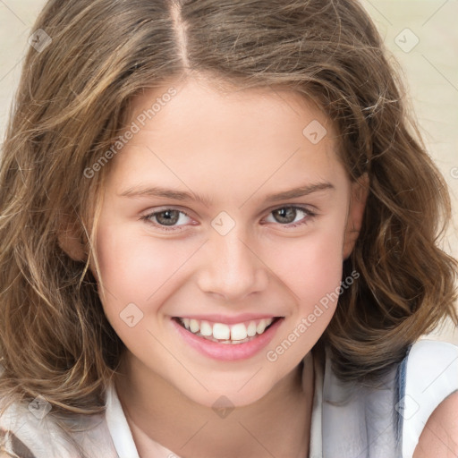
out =
[(235, 325), (225, 325), (224, 323), (210, 323), (208, 321), (199, 321), (198, 319), (179, 318), (184, 327), (190, 330), (192, 334), (208, 337), (209, 340), (219, 341), (222, 344), (242, 344), (248, 342), (250, 337), (256, 334), (262, 334), (273, 321), (274, 318), (260, 319), (246, 323), (237, 323)]

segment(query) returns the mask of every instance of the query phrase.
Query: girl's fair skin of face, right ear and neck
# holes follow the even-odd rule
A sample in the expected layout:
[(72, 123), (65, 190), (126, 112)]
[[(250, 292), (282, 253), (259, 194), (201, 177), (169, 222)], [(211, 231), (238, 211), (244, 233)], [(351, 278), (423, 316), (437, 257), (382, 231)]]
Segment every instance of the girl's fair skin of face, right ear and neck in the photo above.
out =
[[(136, 98), (131, 119), (167, 88)], [(112, 159), (98, 223), (99, 294), (127, 347), (115, 384), (132, 436), (142, 458), (154, 455), (152, 441), (186, 458), (306, 456), (310, 349), (336, 303), (276, 361), (266, 352), (340, 286), (367, 194), (345, 173), (330, 121), (297, 94), (222, 92), (203, 78), (174, 88), (177, 95)], [(302, 134), (314, 120), (327, 129), (317, 144)], [(266, 200), (318, 182), (333, 189)], [(153, 185), (212, 202), (121, 195)], [(298, 210), (284, 223), (273, 211), (292, 205), (316, 216)], [(189, 215), (180, 216), (176, 231), (161, 229), (154, 216), (140, 219), (166, 208)], [(211, 225), (221, 211), (235, 223), (225, 235)], [(120, 318), (131, 302), (143, 313), (135, 327)], [(176, 336), (171, 320), (243, 312), (284, 317), (267, 348), (247, 360), (209, 359)], [(212, 409), (222, 395), (234, 407), (224, 419)]]

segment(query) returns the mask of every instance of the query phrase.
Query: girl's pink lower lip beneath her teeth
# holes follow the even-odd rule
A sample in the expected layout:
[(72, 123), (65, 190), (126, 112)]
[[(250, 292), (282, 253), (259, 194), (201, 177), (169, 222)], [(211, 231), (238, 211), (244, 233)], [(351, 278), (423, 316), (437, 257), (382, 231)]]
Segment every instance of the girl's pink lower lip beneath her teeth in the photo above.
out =
[(276, 330), (281, 325), (284, 318), (277, 319), (276, 322), (264, 333), (257, 335), (253, 340), (244, 344), (218, 344), (211, 340), (194, 335), (174, 319), (172, 323), (178, 334), (182, 336), (186, 344), (191, 345), (198, 352), (213, 358), (214, 360), (246, 360), (260, 352), (269, 344), (276, 335)]

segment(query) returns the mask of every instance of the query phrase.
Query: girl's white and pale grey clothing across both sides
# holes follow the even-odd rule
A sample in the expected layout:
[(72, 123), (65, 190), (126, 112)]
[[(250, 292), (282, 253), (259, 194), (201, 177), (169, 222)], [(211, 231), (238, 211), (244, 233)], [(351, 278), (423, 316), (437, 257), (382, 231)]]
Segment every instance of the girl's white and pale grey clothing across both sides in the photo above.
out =
[[(340, 382), (328, 355), (324, 367), (315, 360), (314, 369), (308, 458), (411, 458), (428, 417), (458, 391), (458, 346), (420, 340), (378, 389)], [(39, 403), (13, 404), (0, 418), (0, 444), (20, 458), (76, 458), (52, 415), (40, 409)], [(140, 458), (114, 386), (105, 414), (75, 416), (75, 424), (86, 429), (73, 437), (88, 458)], [(157, 458), (179, 458), (156, 447)]]

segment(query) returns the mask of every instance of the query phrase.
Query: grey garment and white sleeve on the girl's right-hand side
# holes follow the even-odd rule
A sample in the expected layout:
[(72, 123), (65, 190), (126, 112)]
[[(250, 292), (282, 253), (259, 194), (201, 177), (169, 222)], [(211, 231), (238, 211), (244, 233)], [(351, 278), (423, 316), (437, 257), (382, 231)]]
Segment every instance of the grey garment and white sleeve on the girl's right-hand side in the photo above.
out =
[(415, 342), (377, 386), (342, 382), (328, 352), (324, 364), (310, 458), (411, 458), (432, 412), (458, 392), (458, 346), (446, 342)]

